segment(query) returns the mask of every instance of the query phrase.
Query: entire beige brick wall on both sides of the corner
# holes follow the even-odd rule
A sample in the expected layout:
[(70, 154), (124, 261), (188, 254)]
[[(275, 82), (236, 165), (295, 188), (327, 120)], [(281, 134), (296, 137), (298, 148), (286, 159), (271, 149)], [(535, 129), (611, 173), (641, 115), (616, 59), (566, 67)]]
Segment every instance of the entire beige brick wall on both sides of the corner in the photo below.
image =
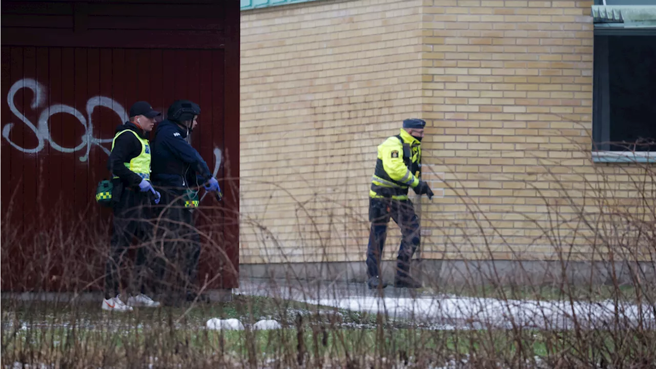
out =
[(376, 146), (409, 116), (428, 122), (424, 176), (443, 188), (417, 204), (422, 257), (593, 257), (596, 214), (639, 207), (632, 179), (644, 171), (590, 160), (590, 5), (326, 0), (242, 12), (241, 263), (363, 260)]

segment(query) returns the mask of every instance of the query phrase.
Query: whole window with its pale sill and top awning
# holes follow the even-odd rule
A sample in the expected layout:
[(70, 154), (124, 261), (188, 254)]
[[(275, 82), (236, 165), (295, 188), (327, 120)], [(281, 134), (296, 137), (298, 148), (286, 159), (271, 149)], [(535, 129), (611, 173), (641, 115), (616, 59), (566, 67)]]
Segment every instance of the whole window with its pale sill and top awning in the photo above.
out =
[(656, 161), (656, 0), (594, 3), (593, 158)]

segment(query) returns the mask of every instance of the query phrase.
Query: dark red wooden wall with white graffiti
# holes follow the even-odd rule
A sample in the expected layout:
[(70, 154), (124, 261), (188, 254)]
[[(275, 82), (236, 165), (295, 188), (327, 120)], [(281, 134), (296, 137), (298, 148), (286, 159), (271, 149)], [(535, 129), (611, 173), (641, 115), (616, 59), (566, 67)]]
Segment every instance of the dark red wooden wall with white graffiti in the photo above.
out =
[[(0, 3), (1, 290), (52, 290), (72, 258), (84, 271), (63, 288), (102, 286), (104, 258), (76, 240), (93, 243), (110, 222), (94, 191), (114, 129), (137, 100), (165, 115), (178, 98), (201, 106), (192, 144), (211, 169), (215, 152), (222, 158), (224, 202), (201, 223), (227, 259), (203, 249), (200, 276), (218, 273), (212, 288), (238, 286), (225, 265), (238, 270), (239, 0), (181, 3)], [(202, 204), (218, 205), (211, 196)], [(59, 245), (44, 246), (53, 233)], [(49, 277), (26, 272), (34, 269)]]

